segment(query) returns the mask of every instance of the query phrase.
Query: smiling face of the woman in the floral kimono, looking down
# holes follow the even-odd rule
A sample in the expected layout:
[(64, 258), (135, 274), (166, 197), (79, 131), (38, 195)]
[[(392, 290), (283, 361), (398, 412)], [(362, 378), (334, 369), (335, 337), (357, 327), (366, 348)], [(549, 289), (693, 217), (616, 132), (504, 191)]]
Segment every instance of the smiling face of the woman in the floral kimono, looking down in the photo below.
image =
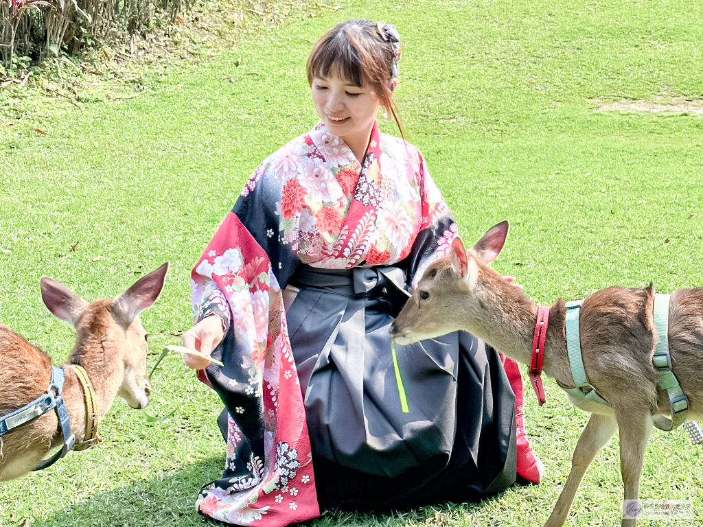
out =
[(366, 149), (380, 105), (376, 94), (331, 72), (328, 77), (316, 76), (311, 90), (315, 110), (328, 131), (352, 150), (360, 143)]

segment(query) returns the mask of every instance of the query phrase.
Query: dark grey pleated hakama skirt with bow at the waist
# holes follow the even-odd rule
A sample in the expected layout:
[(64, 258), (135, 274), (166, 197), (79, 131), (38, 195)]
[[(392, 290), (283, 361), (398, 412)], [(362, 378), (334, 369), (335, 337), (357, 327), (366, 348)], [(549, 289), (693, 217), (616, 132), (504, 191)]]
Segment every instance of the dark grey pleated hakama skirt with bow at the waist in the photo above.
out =
[(515, 483), (515, 396), (499, 354), (465, 332), (396, 344), (399, 380), (399, 269), (302, 270), (287, 317), (321, 507), (463, 502)]

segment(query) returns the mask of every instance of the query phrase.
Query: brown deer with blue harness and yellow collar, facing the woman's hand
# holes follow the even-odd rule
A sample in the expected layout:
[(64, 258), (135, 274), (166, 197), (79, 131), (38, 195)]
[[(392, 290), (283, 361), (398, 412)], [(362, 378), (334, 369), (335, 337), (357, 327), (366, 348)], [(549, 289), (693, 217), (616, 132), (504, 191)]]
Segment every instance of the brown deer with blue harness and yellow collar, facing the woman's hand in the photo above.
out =
[[(105, 416), (117, 395), (132, 408), (148, 405), (147, 335), (139, 313), (156, 301), (168, 266), (164, 263), (143, 276), (115, 299), (98, 299), (91, 303), (60, 282), (41, 278), (41, 298), (46, 307), (76, 330), (75, 346), (67, 363), (61, 366), (65, 374), (61, 396), (76, 438), (82, 438), (86, 430), (89, 396), (84, 395), (72, 365), (82, 366), (88, 374), (96, 396), (98, 418)], [(52, 364), (44, 351), (1, 324), (0, 360), (1, 417), (47, 391)], [(27, 474), (52, 447), (62, 443), (63, 435), (53, 410), (11, 429), (0, 436), (0, 481)]]

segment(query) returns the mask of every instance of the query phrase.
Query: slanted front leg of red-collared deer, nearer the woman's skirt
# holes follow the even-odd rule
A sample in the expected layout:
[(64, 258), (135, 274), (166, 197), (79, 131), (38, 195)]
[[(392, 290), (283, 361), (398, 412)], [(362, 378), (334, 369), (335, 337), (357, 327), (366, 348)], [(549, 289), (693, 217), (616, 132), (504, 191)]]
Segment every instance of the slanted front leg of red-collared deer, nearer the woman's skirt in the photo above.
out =
[(544, 527), (561, 527), (567, 520), (567, 514), (574, 502), (576, 490), (579, 490), (583, 474), (586, 474), (588, 465), (603, 446), (610, 441), (617, 430), (617, 421), (614, 415), (591, 414), (586, 428), (581, 432), (579, 442), (572, 457), (572, 469), (567, 482), (559, 495), (556, 505)]

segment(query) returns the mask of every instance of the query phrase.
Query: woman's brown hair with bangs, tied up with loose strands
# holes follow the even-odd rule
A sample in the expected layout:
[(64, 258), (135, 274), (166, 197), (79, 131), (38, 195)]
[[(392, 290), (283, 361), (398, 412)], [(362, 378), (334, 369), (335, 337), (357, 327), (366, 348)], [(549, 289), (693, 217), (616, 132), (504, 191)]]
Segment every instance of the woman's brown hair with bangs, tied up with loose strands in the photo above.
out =
[(370, 20), (347, 20), (335, 25), (316, 42), (307, 62), (308, 83), (314, 77), (339, 73), (356, 86), (373, 90), (383, 108), (393, 116), (401, 136), (405, 128), (398, 106), (393, 100), (394, 65), (400, 50), (381, 34), (379, 25)]

